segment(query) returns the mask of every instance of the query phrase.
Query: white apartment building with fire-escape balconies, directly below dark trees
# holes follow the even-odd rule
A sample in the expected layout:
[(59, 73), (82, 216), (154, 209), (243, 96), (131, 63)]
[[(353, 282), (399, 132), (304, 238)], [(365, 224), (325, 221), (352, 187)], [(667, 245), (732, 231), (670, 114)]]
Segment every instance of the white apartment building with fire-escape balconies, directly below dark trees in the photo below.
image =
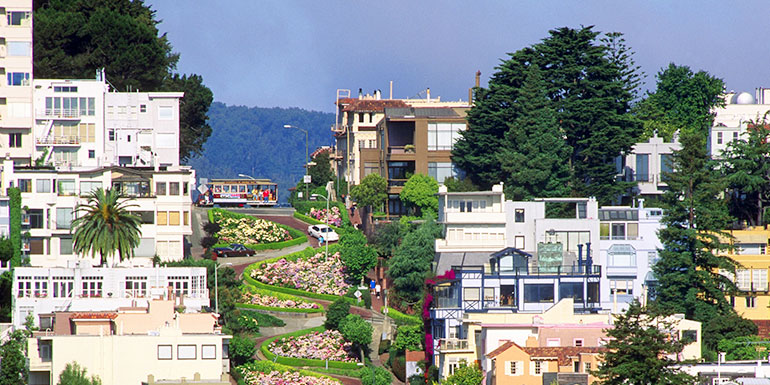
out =
[(35, 159), (64, 169), (179, 165), (181, 92), (114, 92), (94, 80), (36, 79)]

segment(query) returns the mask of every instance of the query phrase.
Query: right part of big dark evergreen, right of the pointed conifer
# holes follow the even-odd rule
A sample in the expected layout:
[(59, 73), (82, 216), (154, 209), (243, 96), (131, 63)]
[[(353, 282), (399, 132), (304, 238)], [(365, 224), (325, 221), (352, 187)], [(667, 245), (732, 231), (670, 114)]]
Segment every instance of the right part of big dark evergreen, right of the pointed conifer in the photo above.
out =
[(595, 196), (608, 204), (627, 192), (631, 183), (619, 182), (615, 159), (627, 154), (642, 130), (628, 113), (633, 99), (628, 67), (597, 44), (592, 27), (559, 28), (538, 44), (543, 78), (550, 87), (557, 119), (572, 148), (579, 196)]

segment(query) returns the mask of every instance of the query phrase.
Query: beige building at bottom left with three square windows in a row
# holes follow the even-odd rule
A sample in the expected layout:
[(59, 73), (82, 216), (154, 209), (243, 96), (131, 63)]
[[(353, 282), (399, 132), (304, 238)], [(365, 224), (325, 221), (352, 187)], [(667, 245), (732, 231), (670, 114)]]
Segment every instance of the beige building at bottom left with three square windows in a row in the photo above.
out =
[(177, 313), (172, 301), (146, 308), (57, 315), (53, 331), (28, 339), (30, 384), (55, 384), (77, 362), (104, 385), (199, 379), (229, 384), (227, 343), (211, 313)]

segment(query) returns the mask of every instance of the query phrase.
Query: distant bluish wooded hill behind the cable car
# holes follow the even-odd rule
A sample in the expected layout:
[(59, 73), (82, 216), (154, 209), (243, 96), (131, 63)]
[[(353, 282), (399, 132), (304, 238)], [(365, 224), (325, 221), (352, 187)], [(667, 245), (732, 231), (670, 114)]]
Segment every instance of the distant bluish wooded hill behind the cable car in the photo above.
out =
[(301, 108), (228, 106), (214, 102), (209, 109), (211, 137), (201, 156), (187, 162), (199, 178), (235, 178), (238, 174), (269, 178), (278, 183), (279, 200), (302, 178), (305, 133), (309, 151), (334, 144), (330, 127), (334, 114)]

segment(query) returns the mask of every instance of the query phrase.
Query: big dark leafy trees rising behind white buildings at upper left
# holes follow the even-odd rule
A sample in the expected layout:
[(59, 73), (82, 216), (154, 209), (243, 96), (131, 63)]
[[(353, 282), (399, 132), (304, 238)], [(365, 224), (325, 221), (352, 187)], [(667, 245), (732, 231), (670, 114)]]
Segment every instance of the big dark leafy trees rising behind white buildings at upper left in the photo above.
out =
[(198, 75), (174, 74), (179, 54), (158, 31), (155, 11), (142, 0), (36, 0), (37, 78), (92, 79), (104, 68), (118, 91), (183, 91), (180, 157), (200, 153), (211, 135), (211, 90)]

